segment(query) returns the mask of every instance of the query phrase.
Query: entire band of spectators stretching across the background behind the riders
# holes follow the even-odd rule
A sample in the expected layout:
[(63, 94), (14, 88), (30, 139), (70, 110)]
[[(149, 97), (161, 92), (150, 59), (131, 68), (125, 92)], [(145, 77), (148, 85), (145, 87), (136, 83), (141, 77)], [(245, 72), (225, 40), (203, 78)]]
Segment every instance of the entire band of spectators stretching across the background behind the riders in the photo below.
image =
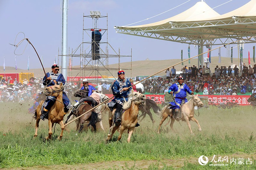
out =
[[(203, 92), (205, 95), (237, 95), (238, 93), (245, 94), (246, 92), (256, 93), (256, 64), (253, 68), (247, 67), (243, 64), (242, 73), (239, 73), (239, 69), (235, 66), (233, 69), (228, 66), (216, 66), (214, 71), (205, 66), (197, 68), (183, 67), (180, 70), (180, 74), (176, 74), (177, 71), (172, 67), (171, 71), (166, 70), (166, 78), (156, 77), (147, 79), (142, 83), (136, 85), (134, 90), (140, 92), (148, 92), (151, 94), (159, 94), (168, 92), (169, 87), (177, 82), (177, 78), (181, 75), (184, 78), (184, 83), (193, 92)], [(239, 76), (240, 75), (240, 76)], [(44, 85), (41, 78), (24, 79), (18, 82), (17, 79), (7, 77), (0, 82), (0, 102), (3, 101), (33, 101), (36, 96), (44, 90)], [(133, 82), (130, 79), (132, 84)], [(112, 82), (113, 84), (113, 82)], [(97, 90), (104, 94), (111, 93), (111, 83), (100, 82), (98, 85), (94, 85)], [(138, 87), (137, 87), (138, 86)], [(144, 86), (144, 88), (143, 88)], [(67, 93), (68, 98), (72, 98), (74, 92), (81, 88), (81, 82), (66, 82), (64, 91)], [(142, 89), (143, 88), (143, 89)]]

